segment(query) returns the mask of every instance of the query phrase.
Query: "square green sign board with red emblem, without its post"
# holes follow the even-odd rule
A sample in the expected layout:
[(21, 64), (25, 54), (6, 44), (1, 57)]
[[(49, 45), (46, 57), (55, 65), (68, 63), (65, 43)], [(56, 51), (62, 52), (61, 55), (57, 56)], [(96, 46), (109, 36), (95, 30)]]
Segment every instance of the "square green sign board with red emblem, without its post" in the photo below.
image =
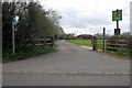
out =
[(122, 20), (122, 10), (112, 11), (112, 21)]

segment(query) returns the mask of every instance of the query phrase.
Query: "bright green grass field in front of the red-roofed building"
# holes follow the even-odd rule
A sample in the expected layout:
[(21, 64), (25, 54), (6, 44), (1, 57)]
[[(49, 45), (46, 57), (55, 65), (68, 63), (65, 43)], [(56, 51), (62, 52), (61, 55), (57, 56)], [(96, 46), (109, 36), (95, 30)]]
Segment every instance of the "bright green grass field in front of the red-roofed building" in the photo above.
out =
[(90, 40), (65, 40), (67, 43), (74, 43), (80, 46), (92, 46)]

